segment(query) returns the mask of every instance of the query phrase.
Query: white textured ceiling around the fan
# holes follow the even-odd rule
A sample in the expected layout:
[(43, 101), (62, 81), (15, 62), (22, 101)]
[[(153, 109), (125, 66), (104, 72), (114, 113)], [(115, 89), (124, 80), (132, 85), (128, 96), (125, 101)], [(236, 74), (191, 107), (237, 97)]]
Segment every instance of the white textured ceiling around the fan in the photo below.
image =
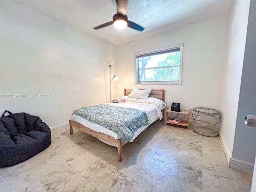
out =
[[(112, 21), (114, 0), (18, 0), (17, 4), (64, 24), (80, 34), (90, 34), (114, 46), (146, 38), (194, 22), (227, 14), (233, 0), (128, 0), (128, 20), (145, 28), (117, 30), (113, 25), (93, 27)], [(55, 26), (58, 28), (58, 26)]]

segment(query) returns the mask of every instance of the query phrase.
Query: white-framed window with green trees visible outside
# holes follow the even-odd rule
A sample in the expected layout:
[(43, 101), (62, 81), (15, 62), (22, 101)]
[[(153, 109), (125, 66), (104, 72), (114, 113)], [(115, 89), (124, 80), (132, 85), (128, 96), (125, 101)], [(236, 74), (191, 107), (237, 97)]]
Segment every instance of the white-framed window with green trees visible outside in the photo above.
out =
[(179, 84), (183, 44), (152, 52), (135, 53), (136, 84)]

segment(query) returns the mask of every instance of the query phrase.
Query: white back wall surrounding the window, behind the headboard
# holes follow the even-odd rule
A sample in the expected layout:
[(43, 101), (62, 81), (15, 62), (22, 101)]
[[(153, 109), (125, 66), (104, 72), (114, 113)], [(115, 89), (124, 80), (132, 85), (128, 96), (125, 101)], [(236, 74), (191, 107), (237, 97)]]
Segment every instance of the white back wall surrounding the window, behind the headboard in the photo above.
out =
[(117, 98), (134, 86), (134, 53), (184, 43), (182, 85), (136, 85), (165, 90), (167, 106), (181, 102), (182, 109), (208, 107), (220, 110), (222, 65), (227, 16), (204, 20), (116, 47)]

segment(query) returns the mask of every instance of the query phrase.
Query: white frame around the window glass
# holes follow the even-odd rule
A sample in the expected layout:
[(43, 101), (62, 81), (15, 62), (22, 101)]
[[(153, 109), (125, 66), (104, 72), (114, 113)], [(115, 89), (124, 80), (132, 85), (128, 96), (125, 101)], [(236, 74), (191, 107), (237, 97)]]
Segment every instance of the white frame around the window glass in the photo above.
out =
[[(179, 73), (179, 80), (178, 81), (139, 81), (139, 63), (137, 62), (137, 56), (144, 55), (144, 54), (154, 54), (157, 52), (163, 52), (166, 50), (172, 50), (175, 48), (180, 48), (180, 73)], [(134, 53), (134, 63), (135, 63), (135, 84), (146, 84), (146, 85), (181, 85), (182, 84), (182, 58), (183, 58), (183, 43), (168, 46), (168, 47), (161, 47), (154, 50), (147, 50)]]

